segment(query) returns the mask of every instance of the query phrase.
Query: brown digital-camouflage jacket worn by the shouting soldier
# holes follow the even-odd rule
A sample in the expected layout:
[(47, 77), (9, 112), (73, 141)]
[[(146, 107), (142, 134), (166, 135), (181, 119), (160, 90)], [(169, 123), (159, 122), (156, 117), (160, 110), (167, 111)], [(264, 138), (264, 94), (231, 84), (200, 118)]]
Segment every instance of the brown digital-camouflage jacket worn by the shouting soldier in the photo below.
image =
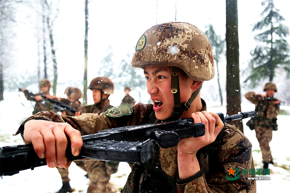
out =
[[(204, 101), (203, 106), (205, 110)], [(152, 104), (138, 103), (134, 105), (131, 115), (116, 118), (104, 113), (72, 117), (41, 112), (26, 121), (31, 119), (66, 122), (84, 135), (115, 127), (152, 123), (156, 117)], [(23, 132), (23, 124), (16, 134)], [(250, 141), (237, 128), (228, 124), (216, 141), (216, 144), (205, 146), (198, 152), (201, 171), (183, 180), (178, 178), (177, 146), (167, 149), (155, 146), (155, 156), (144, 166), (130, 164), (132, 172), (122, 192), (256, 192), (256, 182), (248, 180), (249, 173), (241, 173), (242, 170), (254, 169)], [(239, 179), (227, 179), (227, 170), (231, 168), (239, 169)]]

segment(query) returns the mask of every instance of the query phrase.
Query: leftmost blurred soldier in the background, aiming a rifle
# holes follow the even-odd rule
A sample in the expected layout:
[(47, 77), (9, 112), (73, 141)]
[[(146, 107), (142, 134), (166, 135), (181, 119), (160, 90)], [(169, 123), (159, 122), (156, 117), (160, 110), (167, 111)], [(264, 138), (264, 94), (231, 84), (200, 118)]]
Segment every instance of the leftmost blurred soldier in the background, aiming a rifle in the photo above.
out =
[(39, 87), (40, 87), (40, 93), (37, 93), (34, 96), (31, 96), (26, 89), (21, 88), (21, 91), (24, 92), (24, 95), (27, 98), (27, 100), (36, 102), (34, 105), (34, 111), (32, 112), (32, 114), (34, 115), (35, 113), (38, 113), (40, 111), (57, 112), (56, 109), (52, 109), (50, 107), (49, 102), (45, 101), (45, 103), (43, 103), (43, 99), (41, 97), (41, 95), (46, 95), (47, 97), (50, 96), (49, 95), (49, 90), (51, 87), (50, 81), (48, 79), (42, 79), (39, 83)]

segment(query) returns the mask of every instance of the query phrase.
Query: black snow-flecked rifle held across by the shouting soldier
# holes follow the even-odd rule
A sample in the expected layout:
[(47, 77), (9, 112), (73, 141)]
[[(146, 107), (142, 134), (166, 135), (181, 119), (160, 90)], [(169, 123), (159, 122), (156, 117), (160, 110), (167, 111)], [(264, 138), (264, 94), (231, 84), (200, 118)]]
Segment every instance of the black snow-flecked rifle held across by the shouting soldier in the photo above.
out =
[[(255, 111), (232, 116), (217, 113), (225, 122), (254, 117)], [(101, 130), (96, 134), (83, 135), (81, 153), (73, 156), (68, 141), (68, 161), (90, 158), (143, 164), (154, 156), (154, 143), (161, 148), (178, 144), (180, 138), (200, 137), (205, 134), (203, 123), (194, 123), (192, 118), (165, 123), (152, 123)], [(32, 144), (0, 148), (0, 176), (13, 175), (21, 170), (46, 165), (45, 158), (35, 154)]]

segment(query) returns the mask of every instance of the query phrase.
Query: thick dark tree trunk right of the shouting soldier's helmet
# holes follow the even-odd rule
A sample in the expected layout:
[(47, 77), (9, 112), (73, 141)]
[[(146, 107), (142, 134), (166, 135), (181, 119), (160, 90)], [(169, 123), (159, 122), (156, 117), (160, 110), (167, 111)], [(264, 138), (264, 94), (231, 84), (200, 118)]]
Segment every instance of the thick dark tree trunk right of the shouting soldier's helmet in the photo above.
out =
[[(239, 69), (239, 38), (237, 19), (237, 0), (226, 0), (226, 41), (227, 41), (227, 114), (241, 112), (241, 88)], [(242, 121), (232, 125), (242, 132)]]

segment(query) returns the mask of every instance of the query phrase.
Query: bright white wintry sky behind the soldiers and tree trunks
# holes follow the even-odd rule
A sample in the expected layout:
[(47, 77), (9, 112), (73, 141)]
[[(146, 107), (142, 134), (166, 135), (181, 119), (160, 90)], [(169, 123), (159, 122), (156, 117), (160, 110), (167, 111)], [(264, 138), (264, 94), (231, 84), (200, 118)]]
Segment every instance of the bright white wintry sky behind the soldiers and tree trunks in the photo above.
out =
[[(44, 56), (46, 76), (52, 83), (56, 81), (55, 91), (52, 88), (54, 94), (63, 95), (68, 86), (77, 86), (84, 91), (85, 0), (1, 0), (0, 2), (1, 83), (4, 83), (4, 91), (17, 91), (19, 87), (22, 87), (37, 92), (39, 80), (45, 77)], [(135, 95), (136, 101), (148, 102), (148, 95), (140, 98), (140, 91), (145, 88), (143, 71), (129, 67), (136, 42), (146, 29), (156, 23), (176, 20), (194, 24), (204, 32), (212, 27), (216, 40), (211, 39), (211, 41), (215, 43), (222, 41), (219, 45), (223, 49), (221, 52), (213, 46), (216, 52), (215, 66), (218, 64), (222, 96), (219, 93), (216, 73), (212, 81), (205, 82), (202, 97), (207, 101), (220, 101), (222, 97), (223, 105), (226, 105), (225, 2), (89, 1), (88, 84), (94, 77), (108, 76), (113, 80), (116, 90), (122, 90), (124, 86), (129, 85), (134, 91), (132, 94)], [(266, 5), (267, 2), (269, 1), (266, 1)], [(274, 23), (274, 27), (284, 25), (284, 30), (289, 34), (287, 21), (290, 16), (286, 9), (288, 7), (286, 4), (289, 2), (276, 0), (273, 3), (275, 8), (279, 9), (277, 13), (285, 18)], [(267, 40), (264, 38), (261, 42), (257, 40), (257, 37), (259, 33), (269, 30), (269, 27), (252, 31), (254, 25), (266, 16), (260, 15), (266, 5), (261, 6), (260, 1), (237, 2), (241, 84), (239, 92), (241, 92), (242, 101), (245, 100), (243, 98), (245, 92), (254, 89), (253, 85), (256, 86), (254, 89), (256, 92), (262, 92), (263, 85), (269, 81), (266, 77), (258, 81), (245, 82), (251, 75), (251, 70), (256, 67), (251, 60), (255, 56), (251, 53), (257, 46), (264, 47), (263, 52), (266, 51)], [(274, 34), (273, 41), (283, 39), (289, 44), (289, 35), (286, 33), (285, 37), (281, 34), (279, 31), (278, 35)], [(53, 47), (51, 41), (53, 41)], [(287, 69), (289, 72), (289, 52), (286, 53), (288, 56), (283, 61), (286, 64), (274, 69), (273, 81), (278, 87), (275, 96), (288, 104), (290, 101), (289, 73), (287, 73)], [(254, 77), (260, 78), (260, 75), (265, 74), (263, 71), (260, 72)], [(57, 78), (55, 78), (55, 73), (57, 73)], [(89, 101), (91, 95), (88, 93), (87, 96)]]

